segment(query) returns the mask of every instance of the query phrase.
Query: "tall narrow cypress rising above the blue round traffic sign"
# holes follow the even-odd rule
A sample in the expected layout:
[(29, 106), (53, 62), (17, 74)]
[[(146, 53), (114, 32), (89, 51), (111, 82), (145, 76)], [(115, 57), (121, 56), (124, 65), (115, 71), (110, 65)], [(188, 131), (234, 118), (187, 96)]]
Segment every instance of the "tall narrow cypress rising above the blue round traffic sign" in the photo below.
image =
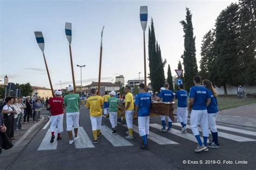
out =
[(183, 53), (183, 65), (184, 65), (184, 85), (187, 91), (193, 86), (193, 77), (198, 74), (197, 59), (196, 59), (196, 46), (193, 35), (192, 14), (188, 8), (186, 8), (186, 21), (180, 21), (183, 25), (184, 35), (184, 53)]

